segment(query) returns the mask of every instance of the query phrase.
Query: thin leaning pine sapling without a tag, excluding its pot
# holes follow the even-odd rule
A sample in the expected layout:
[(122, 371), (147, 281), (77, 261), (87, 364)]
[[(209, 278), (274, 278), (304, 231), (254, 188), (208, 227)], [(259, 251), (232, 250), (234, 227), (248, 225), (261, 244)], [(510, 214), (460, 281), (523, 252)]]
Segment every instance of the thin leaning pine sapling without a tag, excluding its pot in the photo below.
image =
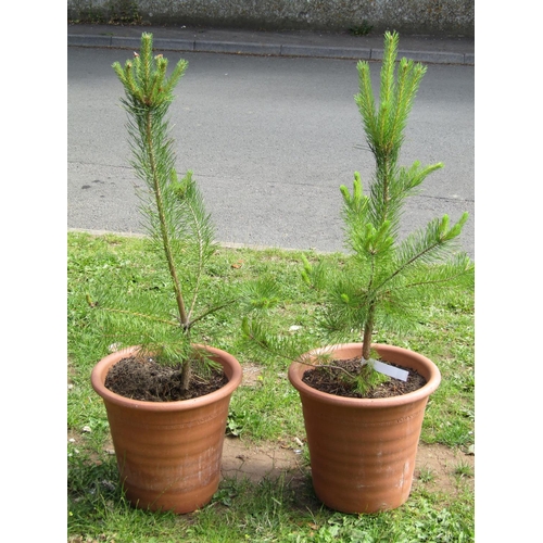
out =
[[(125, 90), (122, 104), (128, 114), (131, 165), (144, 184), (139, 194), (140, 211), (156, 257), (169, 276), (175, 315), (166, 313), (150, 296), (134, 295), (128, 300), (125, 292), (104, 292), (99, 303), (89, 302), (103, 310), (100, 313), (108, 316), (110, 327), (127, 338), (123, 343), (138, 341), (146, 352), (180, 365), (181, 390), (190, 386), (192, 361), (202, 358), (191, 345), (193, 326), (236, 300), (231, 294), (217, 294), (215, 291), (220, 289), (214, 287), (210, 305), (200, 307), (197, 303), (204, 288), (206, 264), (217, 247), (214, 226), (192, 172), (181, 178), (176, 172), (168, 111), (187, 65), (180, 60), (167, 75), (167, 59), (153, 55), (153, 37), (144, 33), (139, 53), (134, 53), (124, 66), (118, 62), (112, 66)], [(118, 308), (117, 302), (131, 305)]]

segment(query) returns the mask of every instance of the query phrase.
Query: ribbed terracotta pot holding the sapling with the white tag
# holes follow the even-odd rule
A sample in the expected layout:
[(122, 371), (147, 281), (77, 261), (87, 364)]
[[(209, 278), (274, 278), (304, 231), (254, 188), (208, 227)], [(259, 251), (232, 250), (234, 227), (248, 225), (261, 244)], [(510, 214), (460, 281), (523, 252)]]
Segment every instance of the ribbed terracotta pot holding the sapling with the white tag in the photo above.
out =
[[(302, 381), (310, 366), (293, 363), (289, 380), (302, 401), (313, 487), (328, 507), (342, 513), (376, 513), (399, 507), (409, 496), (426, 404), (441, 375), (425, 356), (375, 343), (383, 362), (416, 369), (421, 389), (390, 399), (340, 397)], [(312, 351), (336, 359), (362, 354), (362, 343)]]

